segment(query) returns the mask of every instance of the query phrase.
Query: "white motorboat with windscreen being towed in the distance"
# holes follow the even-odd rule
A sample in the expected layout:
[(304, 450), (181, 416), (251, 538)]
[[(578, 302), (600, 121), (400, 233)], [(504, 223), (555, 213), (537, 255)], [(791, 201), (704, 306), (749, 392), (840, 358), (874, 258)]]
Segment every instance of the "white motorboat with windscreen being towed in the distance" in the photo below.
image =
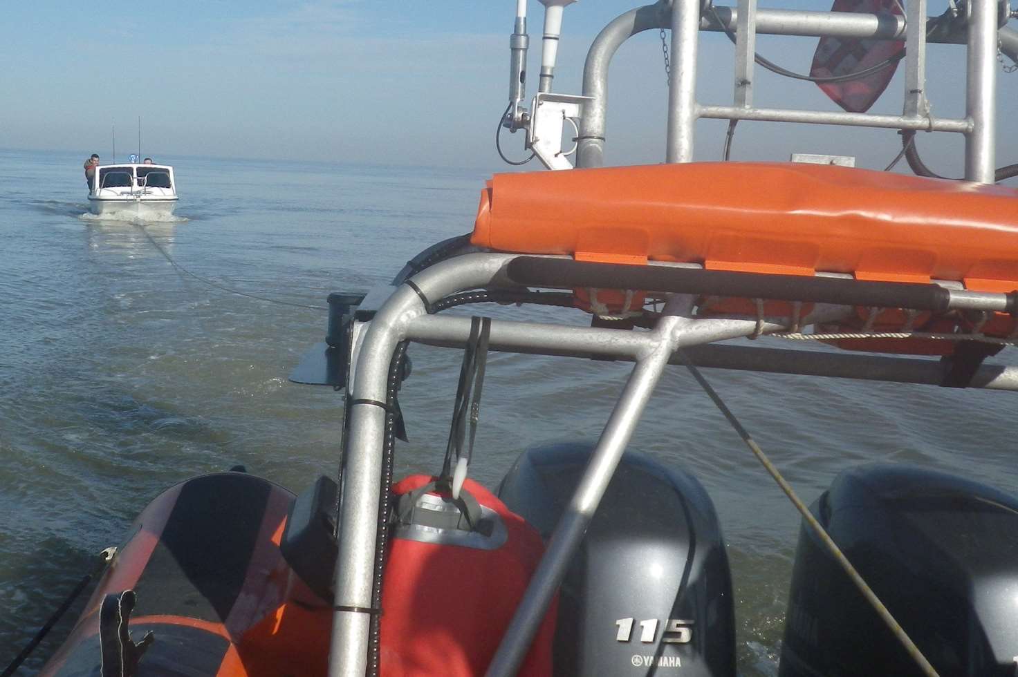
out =
[(170, 217), (176, 185), (168, 165), (102, 165), (92, 175), (89, 210), (112, 219)]

